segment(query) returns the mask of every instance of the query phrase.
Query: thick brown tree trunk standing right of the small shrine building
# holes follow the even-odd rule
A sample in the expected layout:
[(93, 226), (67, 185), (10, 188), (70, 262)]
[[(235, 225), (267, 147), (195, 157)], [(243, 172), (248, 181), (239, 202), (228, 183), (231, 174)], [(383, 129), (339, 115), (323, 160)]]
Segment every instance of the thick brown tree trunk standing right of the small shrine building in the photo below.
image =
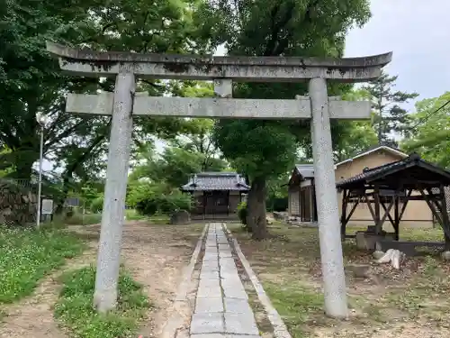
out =
[(252, 238), (261, 241), (267, 238), (266, 224), (266, 178), (255, 178), (247, 196), (247, 226), (252, 229)]

